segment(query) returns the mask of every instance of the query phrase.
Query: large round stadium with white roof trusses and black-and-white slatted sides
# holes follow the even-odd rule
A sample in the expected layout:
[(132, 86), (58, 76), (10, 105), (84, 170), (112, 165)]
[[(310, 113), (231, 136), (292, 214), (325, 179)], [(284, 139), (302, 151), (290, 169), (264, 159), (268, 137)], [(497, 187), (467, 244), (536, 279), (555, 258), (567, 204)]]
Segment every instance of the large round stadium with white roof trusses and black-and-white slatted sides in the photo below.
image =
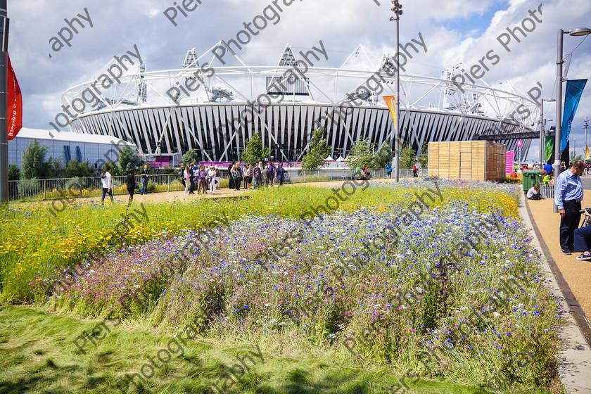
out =
[[(115, 56), (88, 82), (64, 92), (68, 104), (94, 88), (94, 102), (72, 117), (70, 129), (132, 142), (146, 155), (178, 158), (195, 149), (207, 162), (239, 160), (255, 133), (271, 148), (272, 160), (298, 162), (318, 127), (326, 129), (332, 158), (346, 158), (365, 138), (393, 146), (395, 127), (382, 98), (394, 94), (392, 56), (372, 58), (358, 46), (338, 68), (306, 63), (306, 70), (294, 72), (301, 59), (290, 45), (274, 66), (246, 65), (232, 54), (221, 64), (211, 51), (198, 56), (190, 49), (171, 70), (131, 63), (120, 83), (97, 89), (101, 72), (125, 63)], [(538, 138), (537, 103), (509, 84), (459, 87), (454, 80), (462, 71), (459, 65), (438, 77), (400, 74), (401, 144), (420, 151), (430, 141), (488, 139), (511, 150), (523, 139), (526, 157)]]

